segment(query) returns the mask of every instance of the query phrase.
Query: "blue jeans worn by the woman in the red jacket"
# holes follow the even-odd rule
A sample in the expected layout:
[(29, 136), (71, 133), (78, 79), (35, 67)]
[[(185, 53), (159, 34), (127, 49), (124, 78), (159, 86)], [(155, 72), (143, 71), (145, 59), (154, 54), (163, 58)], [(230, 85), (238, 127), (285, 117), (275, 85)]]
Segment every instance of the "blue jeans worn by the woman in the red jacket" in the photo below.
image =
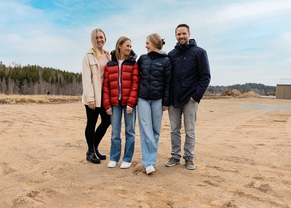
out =
[(110, 160), (118, 163), (121, 155), (121, 120), (122, 111), (124, 114), (125, 123), (125, 147), (123, 161), (131, 163), (134, 153), (135, 142), (135, 122), (136, 122), (136, 106), (133, 107), (132, 113), (127, 114), (126, 105), (122, 106), (120, 103), (112, 106), (111, 119), (111, 148), (110, 148)]

